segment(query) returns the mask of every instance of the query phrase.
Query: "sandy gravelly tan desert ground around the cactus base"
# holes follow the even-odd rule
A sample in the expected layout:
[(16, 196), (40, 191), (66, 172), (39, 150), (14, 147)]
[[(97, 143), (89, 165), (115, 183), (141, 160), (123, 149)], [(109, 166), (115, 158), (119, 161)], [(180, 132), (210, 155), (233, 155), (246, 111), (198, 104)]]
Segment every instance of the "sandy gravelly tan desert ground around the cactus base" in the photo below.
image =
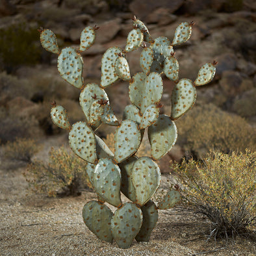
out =
[[(59, 146), (62, 137), (45, 140)], [(14, 166), (19, 166), (14, 168)], [(136, 242), (122, 250), (103, 242), (83, 223), (84, 203), (96, 199), (94, 192), (79, 197), (47, 198), (28, 194), (22, 173), (25, 166), (0, 162), (0, 255), (255, 255), (255, 243), (242, 238), (207, 242), (207, 219), (175, 209), (159, 212), (150, 242)], [(124, 198), (123, 198), (124, 199)], [(124, 199), (125, 201), (125, 199)], [(114, 207), (110, 207), (114, 211)]]

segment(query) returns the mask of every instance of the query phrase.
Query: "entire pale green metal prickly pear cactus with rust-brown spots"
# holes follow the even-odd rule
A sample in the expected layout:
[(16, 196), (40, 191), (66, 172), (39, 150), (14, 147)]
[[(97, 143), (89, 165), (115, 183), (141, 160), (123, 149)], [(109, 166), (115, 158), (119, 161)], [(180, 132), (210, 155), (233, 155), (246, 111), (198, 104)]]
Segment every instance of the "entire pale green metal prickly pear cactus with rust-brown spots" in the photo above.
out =
[[(193, 107), (196, 87), (209, 83), (215, 73), (216, 62), (207, 63), (199, 69), (194, 82), (179, 79), (179, 63), (174, 57), (173, 46), (190, 38), (192, 25), (181, 23), (171, 42), (166, 37), (153, 39), (144, 23), (134, 17), (125, 49), (110, 47), (103, 55), (100, 84), (84, 83), (81, 57), (81, 52), (94, 43), (98, 27), (83, 30), (79, 49), (66, 47), (61, 51), (55, 34), (49, 29), (40, 29), (42, 46), (58, 55), (60, 75), (81, 90), (80, 105), (86, 121), (71, 125), (66, 110), (56, 103), (51, 109), (51, 118), (58, 127), (69, 130), (71, 149), (88, 162), (84, 171), (98, 200), (84, 205), (84, 223), (99, 239), (107, 242), (114, 239), (120, 248), (129, 248), (134, 238), (138, 242), (149, 241), (158, 220), (158, 211), (173, 207), (181, 198), (176, 186), (158, 205), (151, 201), (161, 181), (156, 160), (168, 153), (177, 139), (173, 120)], [(126, 55), (140, 46), (143, 48), (140, 55), (142, 71), (131, 77)], [(175, 83), (171, 116), (159, 114), (164, 86), (162, 75)], [(122, 122), (116, 118), (105, 92), (105, 88), (118, 79), (129, 83), (131, 101), (131, 105), (125, 107)], [(103, 123), (116, 126), (114, 152), (95, 133)], [(138, 158), (136, 151), (146, 128), (151, 156)], [(123, 203), (120, 192), (131, 201)], [(114, 213), (105, 201), (117, 208)]]

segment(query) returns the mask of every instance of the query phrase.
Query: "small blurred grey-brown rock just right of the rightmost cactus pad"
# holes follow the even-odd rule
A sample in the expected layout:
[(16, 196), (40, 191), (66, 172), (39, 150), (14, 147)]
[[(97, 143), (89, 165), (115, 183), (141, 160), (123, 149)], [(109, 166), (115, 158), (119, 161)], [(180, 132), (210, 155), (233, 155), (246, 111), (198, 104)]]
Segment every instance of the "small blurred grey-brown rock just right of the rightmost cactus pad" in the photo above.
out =
[(216, 76), (220, 77), (226, 70), (235, 70), (237, 67), (237, 57), (234, 53), (224, 53), (216, 57), (218, 65), (216, 66)]

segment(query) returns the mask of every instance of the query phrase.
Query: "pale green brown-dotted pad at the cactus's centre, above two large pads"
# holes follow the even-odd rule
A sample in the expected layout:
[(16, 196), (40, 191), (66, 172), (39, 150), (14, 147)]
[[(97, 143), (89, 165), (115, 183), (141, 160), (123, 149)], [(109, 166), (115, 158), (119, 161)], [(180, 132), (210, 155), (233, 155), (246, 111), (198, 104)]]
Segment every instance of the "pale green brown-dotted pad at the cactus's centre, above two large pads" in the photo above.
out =
[(114, 134), (114, 159), (116, 162), (131, 157), (140, 147), (140, 129), (136, 122), (123, 120)]

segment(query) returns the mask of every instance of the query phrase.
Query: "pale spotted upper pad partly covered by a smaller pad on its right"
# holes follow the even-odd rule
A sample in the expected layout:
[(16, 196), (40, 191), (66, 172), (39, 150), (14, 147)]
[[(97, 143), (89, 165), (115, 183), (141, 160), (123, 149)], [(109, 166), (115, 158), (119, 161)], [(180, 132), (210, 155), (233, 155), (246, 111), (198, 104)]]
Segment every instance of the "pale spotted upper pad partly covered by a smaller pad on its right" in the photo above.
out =
[(101, 86), (103, 87), (110, 86), (119, 79), (114, 68), (118, 53), (122, 53), (120, 47), (110, 47), (101, 59)]

